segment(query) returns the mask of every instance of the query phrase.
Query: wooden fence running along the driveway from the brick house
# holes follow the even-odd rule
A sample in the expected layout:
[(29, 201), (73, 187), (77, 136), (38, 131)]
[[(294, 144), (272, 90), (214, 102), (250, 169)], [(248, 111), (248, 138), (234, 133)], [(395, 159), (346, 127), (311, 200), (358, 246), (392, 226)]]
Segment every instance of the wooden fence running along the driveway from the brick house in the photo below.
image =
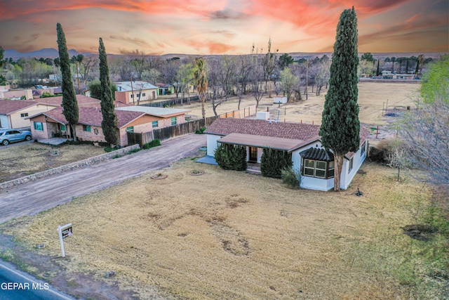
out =
[[(227, 112), (219, 115), (220, 118), (235, 118), (243, 119), (255, 115), (255, 106), (245, 107), (241, 110), (234, 110), (233, 112)], [(177, 136), (185, 136), (186, 134), (193, 133), (203, 127), (207, 127), (212, 124), (217, 117), (206, 118), (206, 124), (204, 119), (196, 119), (193, 121), (177, 124), (173, 126), (164, 127), (161, 129), (154, 129), (153, 131), (143, 133), (128, 132), (128, 145), (139, 144), (141, 147), (145, 143), (149, 143), (158, 138), (160, 141), (166, 141), (170, 138)]]

